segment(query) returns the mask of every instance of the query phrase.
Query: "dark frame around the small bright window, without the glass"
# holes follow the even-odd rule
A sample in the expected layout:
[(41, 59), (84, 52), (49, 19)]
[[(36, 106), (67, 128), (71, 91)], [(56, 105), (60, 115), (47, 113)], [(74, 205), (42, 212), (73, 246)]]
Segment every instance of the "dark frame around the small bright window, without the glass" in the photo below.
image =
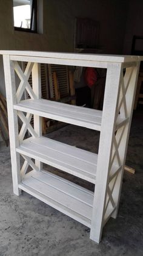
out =
[[(14, 15), (13, 15), (14, 18)], [(16, 31), (23, 31), (23, 32), (30, 32), (30, 33), (37, 33), (37, 19), (38, 19), (38, 13), (37, 13), (37, 0), (32, 0), (32, 12), (31, 12), (31, 18), (30, 18), (30, 29), (25, 29), (24, 27), (15, 27)], [(34, 28), (32, 29), (32, 26), (34, 24)]]

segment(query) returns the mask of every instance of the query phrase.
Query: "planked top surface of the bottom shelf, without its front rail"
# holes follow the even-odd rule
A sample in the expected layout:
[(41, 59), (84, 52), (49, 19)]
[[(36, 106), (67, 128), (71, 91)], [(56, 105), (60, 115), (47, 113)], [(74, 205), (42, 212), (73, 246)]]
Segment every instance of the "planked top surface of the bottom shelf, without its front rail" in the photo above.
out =
[(90, 191), (41, 171), (26, 175), (22, 184), (91, 220), (93, 193)]

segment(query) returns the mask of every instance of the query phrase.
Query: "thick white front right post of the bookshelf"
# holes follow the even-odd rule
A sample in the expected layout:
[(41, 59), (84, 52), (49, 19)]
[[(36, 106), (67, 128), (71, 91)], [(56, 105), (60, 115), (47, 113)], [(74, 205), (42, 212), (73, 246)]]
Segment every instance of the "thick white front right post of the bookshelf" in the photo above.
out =
[(101, 241), (122, 63), (108, 63), (90, 238)]

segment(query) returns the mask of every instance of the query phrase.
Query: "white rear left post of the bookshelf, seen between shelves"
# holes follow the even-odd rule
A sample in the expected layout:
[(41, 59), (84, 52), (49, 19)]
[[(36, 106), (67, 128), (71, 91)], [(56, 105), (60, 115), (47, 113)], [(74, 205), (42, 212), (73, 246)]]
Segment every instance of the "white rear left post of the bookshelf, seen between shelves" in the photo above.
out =
[[(33, 91), (38, 99), (41, 99), (41, 65), (35, 63), (32, 68), (32, 85)], [(42, 117), (34, 115), (34, 129), (39, 137), (42, 136)], [(35, 160), (35, 165), (38, 169), (42, 169), (42, 163)]]

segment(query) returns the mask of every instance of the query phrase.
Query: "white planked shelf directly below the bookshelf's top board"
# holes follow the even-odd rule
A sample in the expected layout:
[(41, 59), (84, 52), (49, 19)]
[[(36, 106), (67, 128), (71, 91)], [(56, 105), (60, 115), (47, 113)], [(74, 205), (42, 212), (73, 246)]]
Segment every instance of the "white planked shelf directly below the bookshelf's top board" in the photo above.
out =
[[(60, 106), (60, 105), (61, 106)], [(71, 108), (69, 108), (71, 107)], [(75, 124), (77, 126), (84, 126), (90, 129), (100, 130), (101, 115), (99, 110), (91, 110), (76, 106), (69, 106), (59, 102), (39, 100), (26, 100), (14, 106), (15, 109), (21, 110), (35, 115), (44, 116), (50, 119), (56, 119), (64, 123)], [(93, 114), (94, 113), (94, 114)]]

